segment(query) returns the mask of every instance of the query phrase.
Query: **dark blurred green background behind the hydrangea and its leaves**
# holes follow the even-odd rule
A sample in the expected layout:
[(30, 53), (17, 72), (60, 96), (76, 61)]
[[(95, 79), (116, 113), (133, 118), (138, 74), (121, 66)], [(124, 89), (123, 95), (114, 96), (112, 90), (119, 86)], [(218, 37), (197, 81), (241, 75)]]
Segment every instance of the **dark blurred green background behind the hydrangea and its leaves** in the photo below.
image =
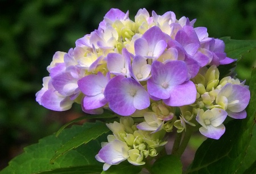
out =
[[(83, 115), (79, 105), (63, 112), (47, 110), (35, 101), (35, 93), (48, 76), (53, 54), (75, 47), (77, 39), (98, 28), (109, 9), (129, 10), (132, 20), (141, 8), (159, 15), (174, 11), (177, 19), (196, 18), (195, 27), (207, 27), (210, 37), (256, 39), (254, 0), (0, 0), (0, 6), (0, 170), (23, 147)], [(243, 57), (239, 78), (250, 80), (255, 57), (255, 50)]]

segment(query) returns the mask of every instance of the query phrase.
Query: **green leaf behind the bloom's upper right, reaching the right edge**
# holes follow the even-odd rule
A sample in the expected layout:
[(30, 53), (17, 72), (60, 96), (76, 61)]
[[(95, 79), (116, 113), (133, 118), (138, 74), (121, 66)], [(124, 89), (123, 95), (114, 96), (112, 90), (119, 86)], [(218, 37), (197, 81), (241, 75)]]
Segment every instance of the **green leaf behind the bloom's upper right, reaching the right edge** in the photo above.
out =
[(242, 55), (256, 48), (256, 40), (234, 40), (230, 37), (220, 38), (225, 43), (226, 55), (232, 59), (239, 61)]

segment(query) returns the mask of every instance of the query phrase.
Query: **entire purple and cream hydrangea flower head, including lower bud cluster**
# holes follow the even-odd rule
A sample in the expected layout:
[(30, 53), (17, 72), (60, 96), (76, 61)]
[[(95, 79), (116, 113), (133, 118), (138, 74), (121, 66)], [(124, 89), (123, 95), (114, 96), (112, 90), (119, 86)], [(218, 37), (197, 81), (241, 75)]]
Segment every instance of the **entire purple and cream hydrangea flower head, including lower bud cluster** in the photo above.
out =
[(136, 126), (122, 123), (130, 117), (108, 125), (113, 135), (97, 155), (105, 169), (126, 159), (144, 164), (151, 151), (157, 154), (150, 141), (162, 141), (154, 134), (174, 127), (180, 133), (201, 125), (201, 134), (219, 139), (227, 116), (246, 117), (250, 92), (234, 77), (219, 79), (218, 66), (236, 60), (226, 57), (224, 42), (209, 38), (207, 28), (194, 28), (195, 21), (177, 20), (172, 11), (150, 16), (146, 9), (133, 21), (128, 12), (111, 9), (75, 48), (55, 53), (36, 101), (56, 111), (76, 102), (89, 114), (108, 109), (144, 118)]

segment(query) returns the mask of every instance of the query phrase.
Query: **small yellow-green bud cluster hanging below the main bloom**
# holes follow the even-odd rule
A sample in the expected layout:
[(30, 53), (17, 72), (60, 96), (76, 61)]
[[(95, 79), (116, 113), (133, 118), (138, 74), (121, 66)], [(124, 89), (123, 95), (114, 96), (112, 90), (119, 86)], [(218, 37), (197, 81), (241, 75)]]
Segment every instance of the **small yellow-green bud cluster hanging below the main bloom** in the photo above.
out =
[(105, 163), (104, 170), (126, 159), (131, 164), (143, 165), (147, 156), (158, 155), (159, 148), (167, 143), (162, 141), (163, 131), (150, 134), (139, 130), (131, 117), (121, 117), (120, 123), (109, 123), (107, 126), (113, 135), (108, 135), (108, 143), (101, 143), (102, 149), (96, 155), (98, 161)]

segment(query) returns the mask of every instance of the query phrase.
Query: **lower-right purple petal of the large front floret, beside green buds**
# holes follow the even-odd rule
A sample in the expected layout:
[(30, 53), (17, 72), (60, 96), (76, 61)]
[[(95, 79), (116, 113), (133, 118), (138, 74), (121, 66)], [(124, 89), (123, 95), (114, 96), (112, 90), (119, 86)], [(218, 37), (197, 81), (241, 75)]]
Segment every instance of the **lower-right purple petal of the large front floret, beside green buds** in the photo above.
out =
[(172, 86), (170, 98), (163, 100), (169, 106), (190, 105), (196, 101), (196, 86), (192, 81)]

